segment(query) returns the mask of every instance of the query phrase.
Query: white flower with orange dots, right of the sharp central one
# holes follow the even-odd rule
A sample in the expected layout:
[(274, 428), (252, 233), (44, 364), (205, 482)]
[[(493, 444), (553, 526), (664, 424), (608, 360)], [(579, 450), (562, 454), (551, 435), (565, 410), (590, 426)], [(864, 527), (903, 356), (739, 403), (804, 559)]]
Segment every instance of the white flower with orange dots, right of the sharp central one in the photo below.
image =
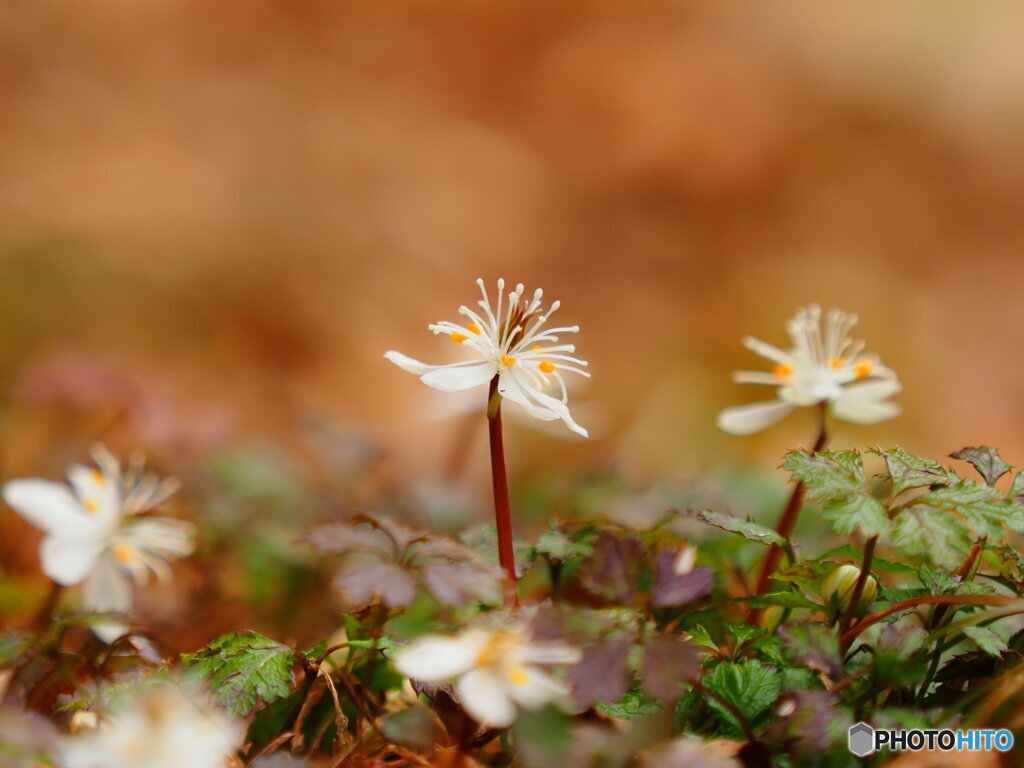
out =
[(821, 329), (821, 310), (814, 305), (798, 309), (786, 324), (793, 341), (780, 349), (748, 336), (743, 344), (775, 364), (771, 373), (739, 371), (733, 379), (743, 384), (778, 387), (778, 398), (729, 408), (718, 416), (718, 426), (733, 434), (751, 434), (775, 424), (794, 408), (830, 403), (838, 419), (876, 424), (900, 412), (887, 399), (900, 391), (896, 375), (874, 355), (862, 354), (864, 343), (853, 341), (850, 330), (857, 315), (830, 310)]

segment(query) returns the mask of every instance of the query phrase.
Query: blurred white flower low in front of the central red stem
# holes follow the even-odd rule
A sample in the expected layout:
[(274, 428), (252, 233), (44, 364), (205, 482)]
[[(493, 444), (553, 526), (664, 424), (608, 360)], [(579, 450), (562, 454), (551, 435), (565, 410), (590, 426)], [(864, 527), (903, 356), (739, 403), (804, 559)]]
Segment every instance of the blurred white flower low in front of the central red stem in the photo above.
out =
[(480, 723), (505, 728), (515, 721), (517, 705), (532, 710), (568, 693), (539, 665), (579, 660), (578, 648), (531, 642), (521, 630), (473, 628), (457, 637), (414, 640), (395, 656), (395, 667), (425, 683), (456, 678), (456, 694), (466, 712)]

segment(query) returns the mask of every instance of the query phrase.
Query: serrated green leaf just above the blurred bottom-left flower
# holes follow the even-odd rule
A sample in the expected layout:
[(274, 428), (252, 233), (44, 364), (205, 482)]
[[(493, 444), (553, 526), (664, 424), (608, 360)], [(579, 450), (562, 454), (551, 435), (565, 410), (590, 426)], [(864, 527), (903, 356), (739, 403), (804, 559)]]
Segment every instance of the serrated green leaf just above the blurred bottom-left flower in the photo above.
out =
[(251, 712), (260, 700), (273, 701), (291, 691), (296, 652), (256, 632), (224, 635), (197, 653), (182, 653), (193, 680), (209, 679), (210, 690), (234, 715)]

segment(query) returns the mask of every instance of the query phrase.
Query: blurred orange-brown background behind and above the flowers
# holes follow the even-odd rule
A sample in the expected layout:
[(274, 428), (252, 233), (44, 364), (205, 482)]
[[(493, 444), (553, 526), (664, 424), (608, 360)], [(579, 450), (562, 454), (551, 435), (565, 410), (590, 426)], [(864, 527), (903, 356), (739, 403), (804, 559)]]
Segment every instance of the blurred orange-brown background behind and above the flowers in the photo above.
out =
[(453, 359), (427, 323), (500, 275), (562, 301), (594, 374), (594, 439), (514, 427), (514, 474), (774, 466), (811, 414), (714, 417), (770, 396), (731, 383), (740, 337), (809, 302), (904, 383), (838, 443), (1024, 463), (1021, 29), (1013, 2), (5, 3), (4, 475), (329, 427), (485, 489), (482, 420), (382, 353)]

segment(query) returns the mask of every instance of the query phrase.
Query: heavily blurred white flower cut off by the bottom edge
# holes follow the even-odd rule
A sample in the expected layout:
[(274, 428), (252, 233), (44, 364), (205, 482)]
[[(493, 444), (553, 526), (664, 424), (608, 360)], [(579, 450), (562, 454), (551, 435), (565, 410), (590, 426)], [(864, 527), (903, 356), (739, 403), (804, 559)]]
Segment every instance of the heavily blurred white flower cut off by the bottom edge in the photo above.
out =
[(65, 739), (61, 768), (222, 768), (242, 725), (177, 686), (132, 697), (100, 725)]

